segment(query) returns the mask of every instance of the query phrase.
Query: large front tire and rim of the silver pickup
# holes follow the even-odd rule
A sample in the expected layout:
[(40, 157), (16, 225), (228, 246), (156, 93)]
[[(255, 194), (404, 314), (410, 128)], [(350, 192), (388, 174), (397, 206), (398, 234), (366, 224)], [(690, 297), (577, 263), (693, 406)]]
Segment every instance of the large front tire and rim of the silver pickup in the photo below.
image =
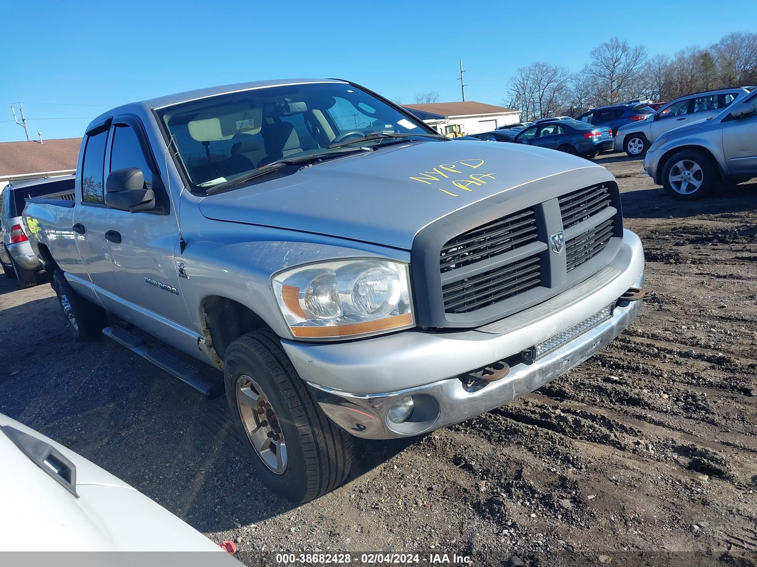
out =
[(334, 490), (352, 465), (352, 438), (332, 423), (266, 330), (226, 349), (229, 411), (267, 488), (302, 503)]

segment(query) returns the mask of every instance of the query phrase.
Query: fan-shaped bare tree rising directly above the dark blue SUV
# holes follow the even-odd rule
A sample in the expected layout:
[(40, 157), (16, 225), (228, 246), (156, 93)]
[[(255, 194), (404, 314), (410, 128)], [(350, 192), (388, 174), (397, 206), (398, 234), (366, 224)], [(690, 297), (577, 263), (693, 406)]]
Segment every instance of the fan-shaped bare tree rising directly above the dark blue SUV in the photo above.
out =
[(616, 103), (635, 96), (639, 88), (641, 67), (646, 60), (643, 45), (628, 45), (614, 37), (590, 51), (592, 59), (588, 70), (597, 79), (602, 91), (598, 93), (605, 103)]

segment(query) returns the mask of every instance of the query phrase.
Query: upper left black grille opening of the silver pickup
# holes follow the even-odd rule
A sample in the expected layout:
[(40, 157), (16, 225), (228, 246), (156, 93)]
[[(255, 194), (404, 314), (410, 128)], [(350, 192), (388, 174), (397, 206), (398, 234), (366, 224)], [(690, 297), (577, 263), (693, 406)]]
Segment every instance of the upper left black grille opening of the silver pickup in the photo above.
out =
[(439, 254), (439, 269), (444, 274), (445, 271), (512, 252), (536, 240), (534, 209), (525, 209), (447, 240)]

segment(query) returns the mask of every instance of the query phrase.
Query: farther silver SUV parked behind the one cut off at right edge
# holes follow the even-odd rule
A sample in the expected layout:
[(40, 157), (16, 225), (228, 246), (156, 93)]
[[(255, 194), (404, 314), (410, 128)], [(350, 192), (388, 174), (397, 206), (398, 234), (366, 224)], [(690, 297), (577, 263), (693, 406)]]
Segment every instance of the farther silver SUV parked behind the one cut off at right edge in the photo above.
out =
[(676, 98), (646, 119), (629, 122), (618, 128), (615, 151), (625, 151), (629, 156), (643, 156), (652, 142), (665, 132), (715, 116), (737, 99), (749, 95), (751, 88), (754, 87), (724, 88)]

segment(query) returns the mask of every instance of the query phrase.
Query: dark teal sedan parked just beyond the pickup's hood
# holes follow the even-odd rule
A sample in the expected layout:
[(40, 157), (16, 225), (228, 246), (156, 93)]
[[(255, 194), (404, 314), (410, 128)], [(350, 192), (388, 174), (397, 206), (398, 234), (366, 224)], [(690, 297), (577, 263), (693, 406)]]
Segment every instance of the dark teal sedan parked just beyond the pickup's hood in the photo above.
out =
[(572, 118), (534, 124), (520, 132), (512, 141), (516, 144), (549, 147), (589, 159), (600, 151), (612, 148), (609, 128), (592, 126)]

